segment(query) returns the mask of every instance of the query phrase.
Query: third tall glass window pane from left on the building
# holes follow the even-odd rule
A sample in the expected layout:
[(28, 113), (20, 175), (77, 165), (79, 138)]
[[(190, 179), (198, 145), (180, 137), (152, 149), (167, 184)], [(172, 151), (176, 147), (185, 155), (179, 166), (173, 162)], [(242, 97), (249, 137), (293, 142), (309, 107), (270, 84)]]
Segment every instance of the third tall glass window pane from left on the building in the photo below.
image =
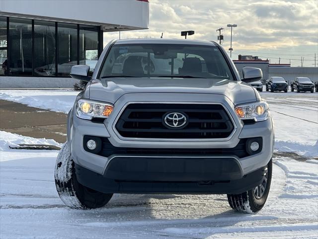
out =
[(55, 76), (55, 22), (34, 20), (34, 75)]

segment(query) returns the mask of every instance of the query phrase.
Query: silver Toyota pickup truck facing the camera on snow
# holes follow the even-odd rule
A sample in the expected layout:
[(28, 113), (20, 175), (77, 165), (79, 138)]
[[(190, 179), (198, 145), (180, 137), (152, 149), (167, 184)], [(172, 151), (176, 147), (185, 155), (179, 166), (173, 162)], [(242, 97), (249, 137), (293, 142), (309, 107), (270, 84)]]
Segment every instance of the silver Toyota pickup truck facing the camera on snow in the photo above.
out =
[(237, 211), (264, 206), (274, 145), (268, 105), (215, 42), (111, 41), (68, 115), (55, 167), (69, 207), (103, 207), (114, 193), (227, 194)]

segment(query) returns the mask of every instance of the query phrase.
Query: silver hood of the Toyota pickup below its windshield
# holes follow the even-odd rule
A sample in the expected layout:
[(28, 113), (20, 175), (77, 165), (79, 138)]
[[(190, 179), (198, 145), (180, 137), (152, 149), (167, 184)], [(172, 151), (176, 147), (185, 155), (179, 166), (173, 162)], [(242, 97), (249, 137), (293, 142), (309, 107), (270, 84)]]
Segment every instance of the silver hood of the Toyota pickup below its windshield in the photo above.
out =
[[(241, 81), (202, 78), (111, 78), (93, 79), (86, 88), (89, 99), (115, 103), (127, 93), (219, 94), (234, 104), (259, 100), (254, 89)], [(150, 99), (151, 100), (151, 99)]]

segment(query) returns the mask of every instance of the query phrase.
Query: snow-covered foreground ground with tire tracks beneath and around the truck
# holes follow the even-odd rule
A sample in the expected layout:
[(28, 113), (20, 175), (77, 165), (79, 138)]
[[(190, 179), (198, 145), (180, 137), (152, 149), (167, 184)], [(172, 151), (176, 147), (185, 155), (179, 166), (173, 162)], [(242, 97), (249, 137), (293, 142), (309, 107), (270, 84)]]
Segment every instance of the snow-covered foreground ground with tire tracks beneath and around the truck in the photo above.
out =
[(0, 136), (1, 239), (318, 238), (315, 159), (275, 158), (269, 199), (256, 215), (234, 212), (226, 195), (114, 195), (104, 208), (80, 211), (56, 192), (57, 151), (7, 147), (47, 140)]

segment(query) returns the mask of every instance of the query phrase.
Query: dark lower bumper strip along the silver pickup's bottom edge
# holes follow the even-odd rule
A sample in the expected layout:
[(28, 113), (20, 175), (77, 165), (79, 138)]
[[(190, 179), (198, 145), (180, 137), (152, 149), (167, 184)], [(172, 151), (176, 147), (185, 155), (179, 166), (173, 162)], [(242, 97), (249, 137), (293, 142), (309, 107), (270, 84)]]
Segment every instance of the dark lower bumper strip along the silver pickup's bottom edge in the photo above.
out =
[[(261, 184), (263, 168), (240, 179), (215, 181), (115, 180), (75, 164), (80, 184), (103, 193), (239, 194)], [(139, 174), (139, 176), (142, 174)]]

